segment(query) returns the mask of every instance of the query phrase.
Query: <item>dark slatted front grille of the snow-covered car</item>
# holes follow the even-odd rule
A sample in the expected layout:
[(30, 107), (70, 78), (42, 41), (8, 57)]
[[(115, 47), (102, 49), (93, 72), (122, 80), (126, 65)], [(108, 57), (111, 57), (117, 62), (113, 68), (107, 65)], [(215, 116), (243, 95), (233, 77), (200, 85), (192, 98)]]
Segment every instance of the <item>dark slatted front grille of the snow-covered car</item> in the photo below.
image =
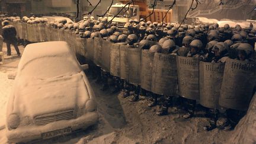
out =
[(59, 120), (71, 120), (75, 118), (74, 110), (58, 111), (56, 113), (42, 114), (34, 117), (36, 125), (45, 125)]

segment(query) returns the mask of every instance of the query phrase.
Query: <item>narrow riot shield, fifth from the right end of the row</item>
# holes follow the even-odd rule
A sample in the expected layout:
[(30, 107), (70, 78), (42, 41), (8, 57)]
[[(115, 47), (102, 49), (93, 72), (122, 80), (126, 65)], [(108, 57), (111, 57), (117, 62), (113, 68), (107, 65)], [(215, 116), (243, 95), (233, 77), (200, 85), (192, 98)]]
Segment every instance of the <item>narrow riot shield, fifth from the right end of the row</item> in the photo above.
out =
[(142, 63), (140, 86), (147, 91), (152, 91), (152, 68), (155, 53), (149, 52), (149, 50), (142, 50)]

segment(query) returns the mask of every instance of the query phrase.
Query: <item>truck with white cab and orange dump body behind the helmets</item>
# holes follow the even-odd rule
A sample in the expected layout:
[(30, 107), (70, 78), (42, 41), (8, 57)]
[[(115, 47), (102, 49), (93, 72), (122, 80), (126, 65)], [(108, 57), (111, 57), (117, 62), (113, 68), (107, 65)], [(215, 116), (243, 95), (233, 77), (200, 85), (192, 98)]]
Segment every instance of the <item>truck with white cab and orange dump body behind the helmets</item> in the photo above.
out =
[[(172, 9), (169, 11), (165, 9), (150, 9), (146, 0), (135, 0), (135, 5), (130, 4), (130, 7), (126, 5), (130, 2), (129, 0), (120, 0), (119, 2), (121, 3), (111, 5), (108, 11), (108, 21), (117, 22), (117, 27), (124, 27), (124, 24), (128, 23), (129, 20), (140, 20), (140, 18), (146, 18), (146, 21), (161, 23), (165, 14), (167, 16), (164, 18), (164, 22), (171, 23)], [(147, 17), (152, 12), (153, 14)], [(116, 17), (114, 17), (115, 15)]]

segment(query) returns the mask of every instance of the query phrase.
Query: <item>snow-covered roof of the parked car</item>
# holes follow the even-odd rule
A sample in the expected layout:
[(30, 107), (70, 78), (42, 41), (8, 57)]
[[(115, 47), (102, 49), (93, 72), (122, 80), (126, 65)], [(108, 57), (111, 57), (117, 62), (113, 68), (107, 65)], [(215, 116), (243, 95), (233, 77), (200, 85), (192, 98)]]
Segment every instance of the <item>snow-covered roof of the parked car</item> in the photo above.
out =
[(76, 60), (75, 53), (65, 41), (33, 43), (25, 47), (18, 68), (23, 68), (28, 62), (40, 59), (40, 57), (63, 57), (63, 59)]

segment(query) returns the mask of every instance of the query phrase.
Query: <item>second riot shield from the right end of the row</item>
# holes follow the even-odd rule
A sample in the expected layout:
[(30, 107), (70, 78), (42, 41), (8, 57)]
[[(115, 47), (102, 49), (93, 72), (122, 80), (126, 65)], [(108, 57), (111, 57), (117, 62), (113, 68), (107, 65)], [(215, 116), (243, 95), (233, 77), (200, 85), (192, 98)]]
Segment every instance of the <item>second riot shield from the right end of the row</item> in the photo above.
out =
[(220, 88), (225, 63), (200, 62), (200, 104), (219, 108)]

